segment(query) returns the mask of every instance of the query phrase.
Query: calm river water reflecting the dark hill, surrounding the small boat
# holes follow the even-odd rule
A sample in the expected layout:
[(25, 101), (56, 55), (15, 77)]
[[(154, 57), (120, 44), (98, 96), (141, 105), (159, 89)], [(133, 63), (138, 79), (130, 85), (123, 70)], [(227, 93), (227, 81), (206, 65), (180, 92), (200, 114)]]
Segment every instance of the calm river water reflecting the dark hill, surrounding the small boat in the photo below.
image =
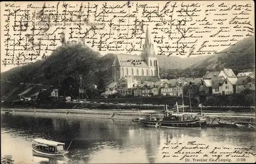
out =
[[(38, 156), (32, 153), (31, 141), (35, 138), (63, 142), (65, 149), (72, 143), (65, 157)], [(163, 158), (162, 148), (168, 141), (177, 145), (190, 141), (204, 143), (210, 152), (215, 147), (255, 146), (255, 132), (219, 127), (157, 130), (130, 120), (1, 113), (1, 154), (12, 155), (14, 163), (185, 162), (180, 160), (181, 156)], [(252, 155), (244, 162), (255, 161), (255, 147), (248, 151)]]

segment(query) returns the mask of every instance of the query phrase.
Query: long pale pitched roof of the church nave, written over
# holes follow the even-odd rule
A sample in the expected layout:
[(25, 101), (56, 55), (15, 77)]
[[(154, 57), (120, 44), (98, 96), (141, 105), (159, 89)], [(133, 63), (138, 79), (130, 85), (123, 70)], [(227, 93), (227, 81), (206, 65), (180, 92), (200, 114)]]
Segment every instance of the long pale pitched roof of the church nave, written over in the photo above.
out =
[(116, 54), (113, 66), (148, 67), (145, 60), (133, 54)]

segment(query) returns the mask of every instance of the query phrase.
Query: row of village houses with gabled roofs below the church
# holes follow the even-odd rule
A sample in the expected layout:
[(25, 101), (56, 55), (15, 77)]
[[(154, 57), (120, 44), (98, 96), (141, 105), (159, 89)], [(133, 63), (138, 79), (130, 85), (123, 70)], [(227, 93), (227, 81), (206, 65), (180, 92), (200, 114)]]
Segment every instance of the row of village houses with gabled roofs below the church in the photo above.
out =
[(108, 97), (118, 93), (122, 96), (197, 96), (206, 94), (228, 95), (241, 93), (245, 89), (255, 90), (255, 72), (241, 72), (236, 76), (232, 69), (207, 71), (203, 77), (137, 81), (132, 75), (124, 76), (106, 87), (101, 95)]

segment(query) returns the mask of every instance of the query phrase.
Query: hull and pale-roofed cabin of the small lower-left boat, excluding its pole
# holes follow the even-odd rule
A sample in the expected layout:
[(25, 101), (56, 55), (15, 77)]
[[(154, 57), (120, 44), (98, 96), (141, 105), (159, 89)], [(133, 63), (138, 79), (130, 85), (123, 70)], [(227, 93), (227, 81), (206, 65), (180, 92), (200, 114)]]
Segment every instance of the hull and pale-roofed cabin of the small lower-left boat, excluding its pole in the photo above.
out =
[(45, 139), (34, 139), (32, 147), (41, 152), (58, 153), (64, 151), (65, 144)]

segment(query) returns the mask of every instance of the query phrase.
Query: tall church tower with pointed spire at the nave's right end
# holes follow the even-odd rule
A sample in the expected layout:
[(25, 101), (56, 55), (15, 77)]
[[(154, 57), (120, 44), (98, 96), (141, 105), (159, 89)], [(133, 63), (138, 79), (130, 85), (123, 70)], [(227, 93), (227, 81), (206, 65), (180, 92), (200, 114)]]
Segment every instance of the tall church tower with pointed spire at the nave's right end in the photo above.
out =
[(150, 39), (150, 32), (148, 31), (148, 27), (146, 27), (146, 37), (145, 43), (143, 44), (143, 51), (141, 53), (141, 58), (145, 60), (148, 66), (149, 76), (159, 76), (159, 67), (158, 67), (158, 60), (156, 58), (154, 45), (151, 43)]

